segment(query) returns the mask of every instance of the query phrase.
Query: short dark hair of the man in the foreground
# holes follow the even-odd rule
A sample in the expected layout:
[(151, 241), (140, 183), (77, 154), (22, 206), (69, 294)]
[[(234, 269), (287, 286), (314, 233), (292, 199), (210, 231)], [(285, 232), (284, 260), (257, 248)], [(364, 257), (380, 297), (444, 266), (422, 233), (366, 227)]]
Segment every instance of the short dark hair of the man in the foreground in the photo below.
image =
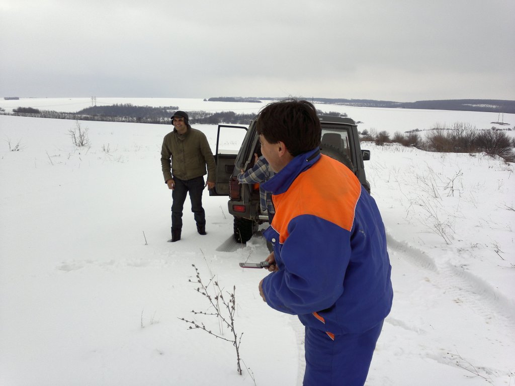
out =
[(293, 156), (320, 147), (322, 134), (313, 104), (293, 98), (268, 104), (258, 115), (256, 131), (271, 144), (284, 142)]

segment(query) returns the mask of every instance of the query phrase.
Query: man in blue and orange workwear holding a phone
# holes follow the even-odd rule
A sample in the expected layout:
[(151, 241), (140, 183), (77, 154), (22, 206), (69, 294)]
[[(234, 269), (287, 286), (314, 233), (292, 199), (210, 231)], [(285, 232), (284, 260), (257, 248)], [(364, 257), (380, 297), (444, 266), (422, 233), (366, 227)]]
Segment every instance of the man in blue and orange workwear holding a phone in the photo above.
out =
[(379, 209), (348, 167), (320, 154), (311, 103), (271, 103), (256, 125), (276, 173), (263, 184), (276, 215), (260, 294), (305, 326), (305, 386), (363, 385), (393, 298)]

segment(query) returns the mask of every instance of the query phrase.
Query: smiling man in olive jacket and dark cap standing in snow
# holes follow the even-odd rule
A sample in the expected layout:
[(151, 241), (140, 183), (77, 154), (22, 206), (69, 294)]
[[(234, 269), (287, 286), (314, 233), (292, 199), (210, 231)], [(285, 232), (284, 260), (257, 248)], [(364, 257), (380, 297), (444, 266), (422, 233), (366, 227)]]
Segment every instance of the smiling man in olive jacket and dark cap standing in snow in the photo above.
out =
[[(204, 133), (188, 124), (188, 115), (177, 111), (172, 117), (174, 131), (165, 135), (161, 148), (161, 167), (171, 197), (171, 242), (181, 239), (182, 208), (190, 192), (192, 212), (197, 222), (197, 232), (205, 235), (205, 212), (202, 191), (215, 186), (216, 165), (208, 139)], [(206, 172), (206, 165), (208, 171)], [(204, 184), (205, 174), (208, 181)]]

